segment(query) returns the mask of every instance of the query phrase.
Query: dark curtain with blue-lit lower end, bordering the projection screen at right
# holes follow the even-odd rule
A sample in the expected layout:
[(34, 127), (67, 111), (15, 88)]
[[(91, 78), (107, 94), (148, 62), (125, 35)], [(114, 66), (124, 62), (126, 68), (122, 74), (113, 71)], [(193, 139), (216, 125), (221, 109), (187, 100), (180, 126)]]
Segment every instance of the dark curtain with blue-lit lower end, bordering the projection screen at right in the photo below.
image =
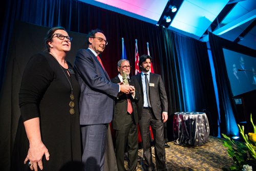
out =
[[(238, 45), (234, 42), (225, 40), (211, 33), (209, 33), (209, 44), (211, 47), (212, 58), (215, 65), (216, 81), (219, 94), (220, 131), (221, 133), (227, 135), (238, 135), (239, 131), (237, 122), (241, 121), (241, 115), (244, 114), (241, 110), (239, 111), (238, 106), (235, 104), (232, 98), (232, 92), (226, 71), (223, 48), (249, 56), (255, 56), (256, 51), (242, 45)], [(246, 117), (249, 116), (244, 116), (244, 119)], [(249, 120), (247, 120), (247, 122), (248, 121)]]

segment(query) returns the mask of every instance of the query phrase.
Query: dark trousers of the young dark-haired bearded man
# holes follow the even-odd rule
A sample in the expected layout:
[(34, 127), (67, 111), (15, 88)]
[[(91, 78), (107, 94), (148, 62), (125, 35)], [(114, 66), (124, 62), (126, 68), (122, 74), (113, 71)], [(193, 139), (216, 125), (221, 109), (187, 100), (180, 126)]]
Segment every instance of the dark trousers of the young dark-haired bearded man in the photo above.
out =
[(165, 166), (165, 148), (164, 148), (164, 127), (162, 120), (157, 120), (151, 109), (143, 109), (140, 124), (140, 133), (142, 137), (143, 154), (147, 170), (155, 170), (152, 161), (150, 125), (153, 131), (155, 142), (155, 156), (157, 170), (166, 170)]

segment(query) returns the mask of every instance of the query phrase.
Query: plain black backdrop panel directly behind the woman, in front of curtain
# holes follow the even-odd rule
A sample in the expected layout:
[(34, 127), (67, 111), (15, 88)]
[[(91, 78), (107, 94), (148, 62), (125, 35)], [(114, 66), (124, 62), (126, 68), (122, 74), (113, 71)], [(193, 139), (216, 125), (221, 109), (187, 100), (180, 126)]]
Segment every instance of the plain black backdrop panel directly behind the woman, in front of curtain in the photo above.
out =
[[(23, 71), (29, 58), (45, 49), (44, 38), (49, 29), (22, 22), (16, 22), (14, 25), (3, 84), (3, 98), (0, 99), (1, 128), (4, 128), (1, 129), (1, 141), (5, 144), (1, 146), (1, 158), (6, 162), (10, 162), (9, 157), (20, 116), (18, 93)], [(73, 40), (66, 59), (73, 64), (78, 49), (87, 48), (86, 34), (69, 32), (69, 35)], [(1, 164), (0, 168), (2, 166)]]

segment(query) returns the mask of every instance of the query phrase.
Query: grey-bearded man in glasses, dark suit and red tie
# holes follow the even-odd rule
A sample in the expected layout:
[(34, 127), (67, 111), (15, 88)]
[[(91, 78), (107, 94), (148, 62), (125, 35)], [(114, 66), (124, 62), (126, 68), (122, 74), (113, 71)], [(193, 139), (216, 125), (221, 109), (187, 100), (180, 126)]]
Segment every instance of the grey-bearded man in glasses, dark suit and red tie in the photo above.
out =
[[(117, 63), (119, 74), (111, 79), (114, 83), (123, 81), (123, 74), (129, 76), (131, 66), (129, 60), (121, 59)], [(127, 83), (134, 86), (131, 79), (127, 78)], [(136, 101), (139, 99), (139, 93), (131, 91), (129, 95), (120, 93), (115, 100), (115, 114), (112, 121), (113, 129), (116, 130), (116, 161), (118, 171), (126, 170), (124, 168), (124, 152), (127, 148), (128, 170), (136, 170), (138, 162), (138, 111)]]

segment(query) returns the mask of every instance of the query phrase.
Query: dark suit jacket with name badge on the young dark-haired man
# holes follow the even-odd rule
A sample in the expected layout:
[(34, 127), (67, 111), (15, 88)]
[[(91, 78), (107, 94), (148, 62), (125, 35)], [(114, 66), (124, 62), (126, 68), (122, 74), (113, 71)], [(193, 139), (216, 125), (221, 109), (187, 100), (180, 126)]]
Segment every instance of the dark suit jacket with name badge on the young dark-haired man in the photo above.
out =
[[(141, 74), (137, 74), (132, 77), (135, 84), (135, 89), (139, 91), (140, 98), (137, 103), (139, 119), (141, 118), (143, 110), (143, 86), (141, 80)], [(160, 75), (150, 73), (150, 102), (152, 105), (152, 110), (157, 119), (162, 118), (162, 112), (168, 112), (168, 100), (163, 84), (163, 80)]]

